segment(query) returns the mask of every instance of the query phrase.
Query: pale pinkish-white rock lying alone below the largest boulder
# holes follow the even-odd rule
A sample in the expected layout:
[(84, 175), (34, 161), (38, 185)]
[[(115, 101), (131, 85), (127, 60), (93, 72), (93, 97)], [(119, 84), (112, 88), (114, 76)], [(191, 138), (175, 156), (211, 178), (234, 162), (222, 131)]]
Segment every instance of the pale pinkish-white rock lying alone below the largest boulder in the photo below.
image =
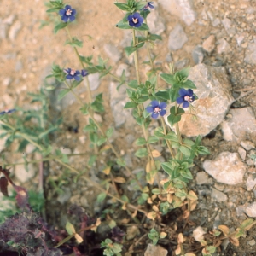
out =
[(241, 161), (239, 154), (222, 152), (215, 160), (205, 160), (203, 168), (218, 183), (236, 185), (243, 182), (247, 166)]

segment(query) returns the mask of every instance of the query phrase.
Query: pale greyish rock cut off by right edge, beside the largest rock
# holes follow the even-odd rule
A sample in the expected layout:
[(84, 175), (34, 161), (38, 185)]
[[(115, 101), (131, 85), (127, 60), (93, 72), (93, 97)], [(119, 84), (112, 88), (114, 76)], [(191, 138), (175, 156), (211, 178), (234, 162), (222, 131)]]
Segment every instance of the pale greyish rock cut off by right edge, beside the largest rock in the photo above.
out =
[(223, 121), (221, 129), (226, 141), (240, 143), (250, 138), (253, 143), (256, 143), (256, 119), (253, 108), (230, 109), (230, 119)]

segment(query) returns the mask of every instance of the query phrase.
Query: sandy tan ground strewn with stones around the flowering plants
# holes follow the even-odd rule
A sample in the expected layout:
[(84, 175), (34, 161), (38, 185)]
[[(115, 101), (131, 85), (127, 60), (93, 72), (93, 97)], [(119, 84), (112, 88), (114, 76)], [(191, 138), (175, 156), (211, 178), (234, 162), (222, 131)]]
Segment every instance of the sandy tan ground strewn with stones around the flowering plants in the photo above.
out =
[[(79, 10), (77, 24), (71, 25), (71, 32), (84, 40), (81, 55), (93, 54), (95, 60), (97, 55), (108, 57), (117, 75), (125, 69), (127, 77), (133, 77), (132, 56), (127, 58), (123, 51), (131, 42), (131, 33), (115, 27), (123, 14), (113, 1), (88, 0), (84, 3), (73, 0), (69, 3)], [(199, 100), (195, 102), (195, 111), (199, 118), (186, 119), (183, 134), (189, 137), (201, 134), (203, 144), (211, 151), (211, 155), (196, 160), (192, 170), (195, 180), (191, 188), (199, 195), (199, 204), (191, 219), (207, 230), (219, 224), (236, 229), (243, 219), (256, 218), (256, 168), (250, 158), (256, 154), (256, 3), (246, 0), (159, 0), (154, 5), (155, 9), (148, 16), (148, 26), (151, 32), (163, 38), (153, 49), (154, 55), (158, 55), (157, 65), (165, 73), (172, 61), (177, 69), (190, 66), (189, 78), (197, 82), (195, 93)], [(36, 92), (44, 85), (44, 77), (49, 74), (53, 62), (61, 67), (76, 65), (74, 68), (79, 68), (79, 63), (73, 64), (76, 63), (73, 50), (64, 46), (67, 39), (64, 31), (54, 35), (52, 26), (39, 29), (41, 20), (48, 20), (43, 1), (2, 0), (2, 6), (0, 109), (16, 105), (28, 109), (32, 106), (26, 93)], [(140, 62), (145, 61), (143, 56), (142, 49)], [(132, 156), (135, 150), (132, 143), (141, 131), (134, 128), (131, 113), (123, 110), (125, 88), (117, 92), (118, 84), (111, 77), (100, 80), (93, 74), (89, 79), (94, 94), (103, 92), (107, 109), (98, 119), (107, 128), (114, 126), (116, 145), (125, 154), (128, 164), (135, 165), (135, 169), (143, 168)], [(86, 90), (80, 89), (79, 94), (84, 99)], [(52, 103), (64, 118), (63, 133), (55, 139), (56, 145), (66, 154), (83, 153), (88, 139), (82, 129), (85, 121), (77, 102), (67, 96), (61, 102), (53, 100)], [(72, 132), (73, 128), (78, 128), (78, 132)], [(3, 148), (3, 139), (0, 143), (0, 150), (2, 154), (5, 152), (9, 162), (22, 161), (22, 154)], [(31, 152), (32, 148), (27, 147), (28, 159), (36, 157)], [(75, 158), (72, 163), (83, 168), (82, 158)], [(23, 166), (16, 166), (12, 172), (18, 183), (30, 184), (31, 189), (36, 189), (38, 168), (31, 165), (26, 172)], [(47, 172), (53, 179), (60, 177), (57, 166)], [(96, 171), (90, 175), (99, 181)], [(45, 189), (51, 200), (47, 214), (53, 224), (63, 226), (66, 223), (70, 203), (81, 205), (91, 214), (102, 210), (102, 206), (94, 203), (96, 191), (90, 184), (80, 182), (65, 186), (63, 183), (65, 193), (58, 195), (50, 190), (47, 181), (49, 179)], [(256, 255), (255, 244), (256, 228), (253, 228), (246, 238), (241, 238), (240, 247), (229, 244), (222, 255)]]

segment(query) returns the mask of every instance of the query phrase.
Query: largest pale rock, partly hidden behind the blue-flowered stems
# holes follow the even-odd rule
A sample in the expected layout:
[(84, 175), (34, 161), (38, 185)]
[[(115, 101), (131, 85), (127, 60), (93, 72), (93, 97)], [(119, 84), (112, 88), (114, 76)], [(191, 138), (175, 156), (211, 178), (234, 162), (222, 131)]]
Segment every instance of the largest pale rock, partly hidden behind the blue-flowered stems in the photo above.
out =
[(205, 64), (192, 67), (188, 79), (197, 87), (194, 92), (198, 100), (193, 103), (193, 114), (183, 114), (180, 131), (187, 137), (206, 136), (223, 121), (234, 101), (231, 84), (224, 67)]

